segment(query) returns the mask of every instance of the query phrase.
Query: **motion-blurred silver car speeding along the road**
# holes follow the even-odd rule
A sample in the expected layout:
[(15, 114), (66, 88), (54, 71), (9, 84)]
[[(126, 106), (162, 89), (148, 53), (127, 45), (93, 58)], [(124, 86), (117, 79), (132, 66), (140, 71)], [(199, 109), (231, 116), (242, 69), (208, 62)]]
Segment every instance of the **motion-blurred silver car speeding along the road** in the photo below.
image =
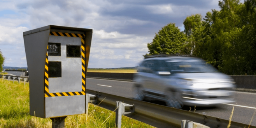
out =
[(188, 106), (215, 106), (234, 102), (233, 79), (217, 72), (204, 60), (189, 56), (146, 58), (133, 78), (134, 98), (145, 97), (164, 101), (167, 106), (181, 109)]

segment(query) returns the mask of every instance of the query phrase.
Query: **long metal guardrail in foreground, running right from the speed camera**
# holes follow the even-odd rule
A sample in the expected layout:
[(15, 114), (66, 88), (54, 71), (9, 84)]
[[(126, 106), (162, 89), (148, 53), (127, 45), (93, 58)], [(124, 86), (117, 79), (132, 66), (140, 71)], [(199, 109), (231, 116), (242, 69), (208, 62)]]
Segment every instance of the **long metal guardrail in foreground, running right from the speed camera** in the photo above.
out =
[[(141, 122), (156, 126), (158, 128), (181, 128), (182, 120), (189, 120), (196, 123), (209, 126), (211, 128), (227, 128), (229, 121), (217, 117), (189, 112), (186, 110), (175, 109), (154, 103), (134, 100), (107, 93), (101, 93), (93, 90), (86, 90), (86, 93), (96, 95), (98, 101), (92, 102), (95, 105), (114, 111), (116, 109), (116, 101), (121, 101), (134, 106), (134, 112), (126, 116)], [(230, 128), (248, 128), (247, 124), (231, 121)]]

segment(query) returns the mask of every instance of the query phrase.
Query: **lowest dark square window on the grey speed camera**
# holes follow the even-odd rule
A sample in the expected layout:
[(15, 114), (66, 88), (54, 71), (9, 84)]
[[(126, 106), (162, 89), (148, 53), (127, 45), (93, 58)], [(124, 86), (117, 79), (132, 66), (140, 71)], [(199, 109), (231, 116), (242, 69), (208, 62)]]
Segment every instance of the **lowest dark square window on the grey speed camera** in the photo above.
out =
[(49, 61), (48, 67), (49, 67), (49, 70), (48, 70), (49, 78), (61, 77), (61, 62)]

